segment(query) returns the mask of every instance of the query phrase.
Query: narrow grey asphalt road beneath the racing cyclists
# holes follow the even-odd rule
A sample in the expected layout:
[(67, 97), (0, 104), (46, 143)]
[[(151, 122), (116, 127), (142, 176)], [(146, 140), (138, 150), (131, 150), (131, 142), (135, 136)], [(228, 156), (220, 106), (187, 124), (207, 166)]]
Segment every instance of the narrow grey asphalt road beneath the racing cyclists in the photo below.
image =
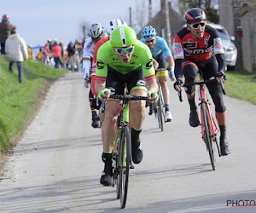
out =
[[(169, 86), (173, 120), (161, 132), (147, 115), (143, 162), (131, 170), (122, 212), (256, 212), (241, 206), (256, 202), (256, 106), (224, 97), (232, 153), (213, 171), (187, 101)], [(120, 211), (115, 188), (99, 182), (101, 130), (90, 126), (88, 93), (81, 72), (51, 86), (0, 176), (0, 212)]]

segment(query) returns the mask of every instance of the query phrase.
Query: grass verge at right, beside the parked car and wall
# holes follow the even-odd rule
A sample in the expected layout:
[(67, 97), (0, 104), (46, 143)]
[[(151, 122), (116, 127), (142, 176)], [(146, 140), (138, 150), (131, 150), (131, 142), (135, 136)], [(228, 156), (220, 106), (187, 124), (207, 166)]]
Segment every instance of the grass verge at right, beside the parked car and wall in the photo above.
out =
[(246, 71), (228, 71), (224, 83), (226, 94), (241, 101), (256, 105), (256, 73)]

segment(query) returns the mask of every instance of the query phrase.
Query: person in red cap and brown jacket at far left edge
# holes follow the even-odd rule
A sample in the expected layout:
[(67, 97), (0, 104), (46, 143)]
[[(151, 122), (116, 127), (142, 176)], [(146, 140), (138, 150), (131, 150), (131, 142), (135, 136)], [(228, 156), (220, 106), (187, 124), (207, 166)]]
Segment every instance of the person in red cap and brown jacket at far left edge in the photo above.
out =
[(16, 26), (9, 23), (9, 15), (3, 14), (2, 22), (0, 22), (0, 43), (1, 43), (1, 54), (5, 52), (5, 41), (9, 37), (11, 30), (15, 30)]

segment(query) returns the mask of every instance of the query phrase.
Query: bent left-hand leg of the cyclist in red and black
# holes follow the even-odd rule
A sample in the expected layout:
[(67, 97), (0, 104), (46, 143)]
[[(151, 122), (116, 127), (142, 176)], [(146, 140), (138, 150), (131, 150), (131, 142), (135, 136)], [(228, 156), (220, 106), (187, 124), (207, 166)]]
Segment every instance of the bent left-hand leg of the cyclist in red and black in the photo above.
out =
[[(195, 81), (196, 74), (198, 72), (197, 65), (189, 60), (185, 60), (183, 62), (183, 75), (185, 78), (185, 83), (191, 83)], [(190, 113), (189, 113), (189, 125), (192, 127), (196, 127), (200, 124), (197, 107), (195, 105), (195, 86), (190, 86), (186, 90)]]

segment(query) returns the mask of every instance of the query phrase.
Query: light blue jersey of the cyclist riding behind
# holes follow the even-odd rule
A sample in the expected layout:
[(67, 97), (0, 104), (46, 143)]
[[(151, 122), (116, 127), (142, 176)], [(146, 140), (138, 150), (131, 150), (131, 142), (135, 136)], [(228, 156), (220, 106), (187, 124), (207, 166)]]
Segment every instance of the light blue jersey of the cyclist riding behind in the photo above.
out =
[[(155, 39), (156, 39), (156, 43), (155, 43), (154, 49), (150, 49), (153, 55), (153, 58), (156, 57), (157, 55), (160, 55), (162, 51), (165, 55), (165, 58), (167, 58), (168, 56), (172, 56), (172, 52), (169, 49), (166, 43), (166, 40), (162, 37), (155, 37)], [(143, 38), (141, 39), (141, 41), (143, 43), (146, 43)]]

